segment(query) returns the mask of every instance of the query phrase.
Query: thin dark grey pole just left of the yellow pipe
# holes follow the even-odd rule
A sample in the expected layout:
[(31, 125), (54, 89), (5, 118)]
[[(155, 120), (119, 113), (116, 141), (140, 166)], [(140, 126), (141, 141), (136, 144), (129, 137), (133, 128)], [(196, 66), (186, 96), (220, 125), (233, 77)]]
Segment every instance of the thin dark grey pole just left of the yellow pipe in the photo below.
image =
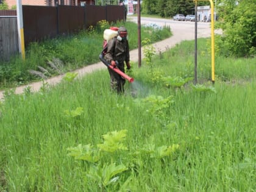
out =
[(197, 1), (194, 7), (194, 84), (197, 84)]

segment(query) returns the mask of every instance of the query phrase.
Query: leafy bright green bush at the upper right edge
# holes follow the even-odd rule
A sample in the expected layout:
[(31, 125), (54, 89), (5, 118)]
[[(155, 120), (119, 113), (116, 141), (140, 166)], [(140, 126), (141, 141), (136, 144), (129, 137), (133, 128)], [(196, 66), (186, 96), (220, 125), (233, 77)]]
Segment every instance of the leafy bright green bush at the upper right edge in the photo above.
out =
[(217, 28), (224, 35), (216, 38), (217, 50), (226, 56), (256, 54), (256, 0), (222, 0), (218, 5)]

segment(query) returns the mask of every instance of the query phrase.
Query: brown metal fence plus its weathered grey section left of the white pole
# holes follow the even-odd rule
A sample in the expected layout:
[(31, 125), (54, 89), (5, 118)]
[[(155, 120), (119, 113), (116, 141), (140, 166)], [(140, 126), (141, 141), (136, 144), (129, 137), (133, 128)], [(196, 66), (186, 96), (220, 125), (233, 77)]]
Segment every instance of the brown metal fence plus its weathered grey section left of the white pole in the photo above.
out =
[[(72, 34), (98, 21), (124, 20), (124, 7), (120, 5), (85, 5), (85, 7), (59, 5), (57, 7), (23, 5), (23, 28), (25, 46), (31, 41)], [(9, 12), (9, 13), (7, 13)], [(1, 16), (1, 15), (9, 15)], [(0, 10), (0, 60), (8, 60), (18, 52), (18, 29), (16, 11)], [(12, 36), (12, 37), (11, 37)]]

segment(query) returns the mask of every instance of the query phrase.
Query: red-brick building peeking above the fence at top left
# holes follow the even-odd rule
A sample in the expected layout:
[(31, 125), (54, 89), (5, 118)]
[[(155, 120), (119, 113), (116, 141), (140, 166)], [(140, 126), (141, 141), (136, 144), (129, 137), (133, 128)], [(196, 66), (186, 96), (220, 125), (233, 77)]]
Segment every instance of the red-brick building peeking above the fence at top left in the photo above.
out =
[[(1, 1), (1, 0), (0, 0)], [(16, 5), (16, 0), (5, 0), (9, 9)], [(84, 6), (85, 4), (94, 5), (95, 0), (21, 0), (23, 5), (41, 5), (41, 6), (56, 6), (56, 5), (77, 5)]]

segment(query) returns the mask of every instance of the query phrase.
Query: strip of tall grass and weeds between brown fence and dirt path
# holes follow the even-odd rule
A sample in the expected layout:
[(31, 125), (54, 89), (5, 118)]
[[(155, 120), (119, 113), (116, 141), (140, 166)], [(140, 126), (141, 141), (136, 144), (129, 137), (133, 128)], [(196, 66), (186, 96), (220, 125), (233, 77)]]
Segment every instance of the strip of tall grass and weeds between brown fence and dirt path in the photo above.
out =
[[(130, 21), (115, 24), (101, 21), (97, 26), (89, 27), (76, 35), (30, 43), (26, 48), (26, 60), (16, 55), (9, 62), (0, 63), (0, 90), (26, 85), (99, 62), (103, 32), (110, 26), (126, 26), (130, 50), (138, 47), (138, 27)], [(162, 29), (141, 27), (141, 38), (150, 38), (152, 43), (170, 36), (168, 26)]]

